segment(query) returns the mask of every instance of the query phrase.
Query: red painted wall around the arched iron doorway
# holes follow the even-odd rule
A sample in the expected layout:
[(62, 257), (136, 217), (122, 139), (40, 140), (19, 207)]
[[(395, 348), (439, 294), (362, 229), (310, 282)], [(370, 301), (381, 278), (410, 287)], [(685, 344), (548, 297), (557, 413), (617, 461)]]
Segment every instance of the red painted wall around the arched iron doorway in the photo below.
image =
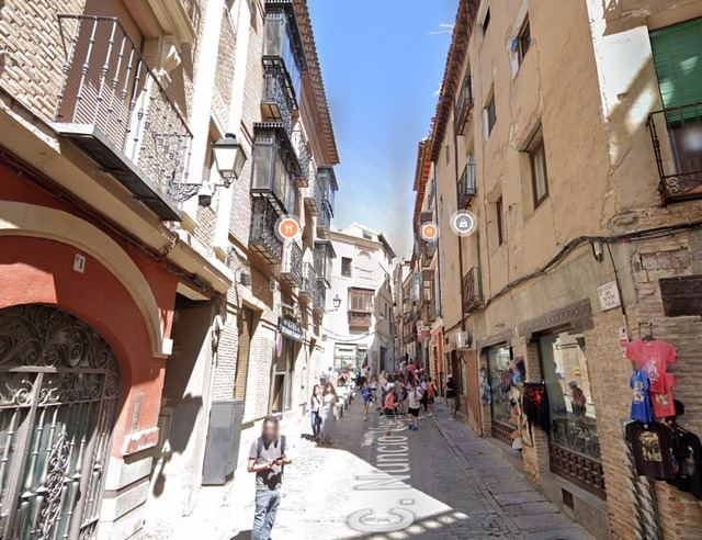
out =
[[(84, 218), (80, 210), (19, 177), (0, 164), (0, 200), (63, 210)], [(139, 249), (114, 238), (141, 270), (156, 297), (170, 336), (178, 278)], [(138, 429), (155, 427), (160, 409), (165, 359), (154, 358), (148, 331), (136, 303), (97, 259), (82, 254), (84, 273), (76, 272), (76, 247), (46, 238), (0, 236), (0, 308), (18, 304), (55, 304), (94, 327), (112, 346), (122, 374), (122, 402), (112, 453), (121, 455), (132, 429), (134, 401), (143, 393)]]

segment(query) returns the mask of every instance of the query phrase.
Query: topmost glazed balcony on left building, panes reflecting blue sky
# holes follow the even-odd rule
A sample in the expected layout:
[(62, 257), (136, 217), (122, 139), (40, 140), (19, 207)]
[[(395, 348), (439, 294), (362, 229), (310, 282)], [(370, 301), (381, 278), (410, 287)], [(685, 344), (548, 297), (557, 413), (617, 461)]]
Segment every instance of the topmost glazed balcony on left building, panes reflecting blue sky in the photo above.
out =
[(285, 90), (296, 110), (301, 101), (302, 72), (307, 69), (307, 59), (293, 0), (265, 1), (263, 66), (283, 68)]

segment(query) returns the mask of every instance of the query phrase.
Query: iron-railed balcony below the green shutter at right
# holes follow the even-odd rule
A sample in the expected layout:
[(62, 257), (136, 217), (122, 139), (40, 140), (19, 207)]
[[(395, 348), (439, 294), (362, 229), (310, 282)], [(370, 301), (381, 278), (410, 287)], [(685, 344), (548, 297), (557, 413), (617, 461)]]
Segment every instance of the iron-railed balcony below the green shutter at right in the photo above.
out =
[(664, 204), (702, 199), (702, 102), (652, 113), (648, 131)]

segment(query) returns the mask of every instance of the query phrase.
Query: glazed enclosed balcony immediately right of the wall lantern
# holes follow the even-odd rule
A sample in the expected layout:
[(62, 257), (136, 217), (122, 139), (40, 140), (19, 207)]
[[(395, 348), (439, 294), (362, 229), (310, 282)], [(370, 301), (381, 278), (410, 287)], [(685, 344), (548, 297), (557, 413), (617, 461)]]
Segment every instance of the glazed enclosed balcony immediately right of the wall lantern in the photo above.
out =
[(282, 123), (253, 124), (251, 194), (268, 199), (281, 214), (296, 211), (297, 155)]

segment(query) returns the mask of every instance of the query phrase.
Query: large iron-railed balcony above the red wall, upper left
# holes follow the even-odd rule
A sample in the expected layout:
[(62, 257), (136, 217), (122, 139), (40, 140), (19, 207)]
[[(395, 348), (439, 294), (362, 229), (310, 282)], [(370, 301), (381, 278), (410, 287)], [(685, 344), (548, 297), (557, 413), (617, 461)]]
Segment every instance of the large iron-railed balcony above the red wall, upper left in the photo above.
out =
[(114, 18), (59, 15), (66, 58), (54, 128), (161, 221), (180, 221), (192, 134)]

